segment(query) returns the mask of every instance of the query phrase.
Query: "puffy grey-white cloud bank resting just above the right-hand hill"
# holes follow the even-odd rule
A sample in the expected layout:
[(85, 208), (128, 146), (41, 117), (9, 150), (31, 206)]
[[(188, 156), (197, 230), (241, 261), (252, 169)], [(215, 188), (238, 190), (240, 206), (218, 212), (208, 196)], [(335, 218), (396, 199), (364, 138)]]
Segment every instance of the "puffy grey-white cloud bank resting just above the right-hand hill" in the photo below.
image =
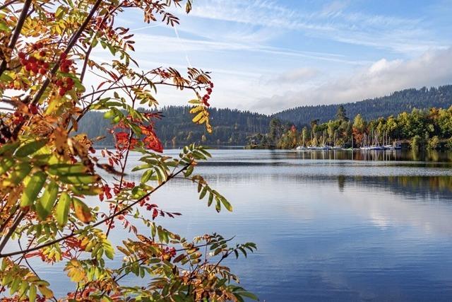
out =
[[(408, 60), (381, 59), (348, 76), (326, 79), (315, 88), (277, 93), (251, 105), (259, 112), (276, 112), (302, 105), (350, 103), (393, 91), (452, 83), (452, 47), (430, 50)], [(275, 87), (277, 89), (277, 87)]]

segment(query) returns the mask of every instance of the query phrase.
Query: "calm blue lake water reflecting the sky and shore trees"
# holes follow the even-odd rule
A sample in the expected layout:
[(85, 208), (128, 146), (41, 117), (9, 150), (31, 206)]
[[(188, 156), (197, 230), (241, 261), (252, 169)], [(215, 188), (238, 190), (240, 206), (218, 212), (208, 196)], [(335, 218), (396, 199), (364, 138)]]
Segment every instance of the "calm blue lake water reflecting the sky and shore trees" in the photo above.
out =
[[(183, 216), (157, 223), (186, 238), (218, 232), (256, 243), (256, 253), (227, 265), (261, 301), (451, 301), (450, 153), (212, 154), (198, 173), (234, 211), (217, 214), (191, 182), (172, 180), (151, 200)], [(138, 157), (132, 154), (131, 166)], [(123, 236), (118, 226), (112, 240)], [(57, 267), (40, 269), (63, 294)]]

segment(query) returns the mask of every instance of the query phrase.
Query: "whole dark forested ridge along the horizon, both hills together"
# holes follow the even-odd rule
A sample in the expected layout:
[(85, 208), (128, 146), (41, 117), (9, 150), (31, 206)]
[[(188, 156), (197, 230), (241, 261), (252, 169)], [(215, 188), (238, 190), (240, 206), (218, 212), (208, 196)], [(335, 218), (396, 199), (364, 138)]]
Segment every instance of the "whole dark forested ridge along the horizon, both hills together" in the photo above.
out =
[[(412, 108), (449, 108), (451, 105), (452, 85), (449, 85), (420, 90), (406, 89), (383, 98), (347, 103), (344, 104), (344, 107), (350, 118), (360, 113), (366, 120), (371, 120), (398, 115), (404, 111), (411, 112)], [(328, 120), (335, 120), (338, 105), (299, 107), (278, 112), (273, 116), (249, 111), (210, 108), (212, 134), (207, 134), (204, 127), (191, 122), (193, 115), (189, 113), (189, 110), (190, 108), (187, 106), (161, 108), (160, 111), (165, 117), (156, 122), (155, 129), (167, 148), (191, 142), (210, 146), (243, 146), (247, 143), (246, 137), (251, 134), (267, 133), (272, 117), (279, 117), (283, 123), (294, 123), (298, 126), (309, 124), (311, 120), (316, 119), (319, 119), (319, 122), (328, 122)], [(105, 135), (108, 127), (110, 127), (109, 120), (103, 118), (103, 113), (93, 111), (83, 117), (78, 132), (87, 133), (88, 137), (98, 137)], [(112, 137), (107, 136), (101, 144), (112, 146)]]

